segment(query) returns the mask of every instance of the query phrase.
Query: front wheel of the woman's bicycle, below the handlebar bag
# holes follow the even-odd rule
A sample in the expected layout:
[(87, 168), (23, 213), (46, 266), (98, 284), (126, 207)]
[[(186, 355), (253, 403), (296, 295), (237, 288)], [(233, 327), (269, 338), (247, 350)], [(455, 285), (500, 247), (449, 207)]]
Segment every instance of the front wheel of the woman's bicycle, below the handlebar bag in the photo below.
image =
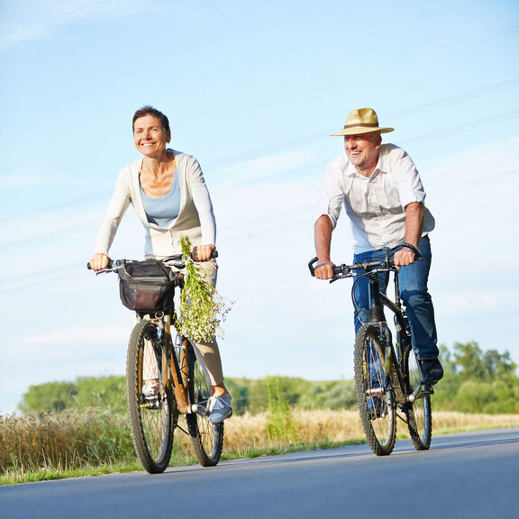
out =
[[(148, 348), (145, 354), (145, 348)], [(160, 346), (158, 327), (141, 321), (132, 330), (126, 359), (128, 411), (132, 423), (135, 453), (141, 465), (151, 474), (168, 468), (177, 425), (177, 401), (165, 381), (167, 361)], [(157, 397), (142, 395), (146, 372), (153, 370), (159, 381)]]

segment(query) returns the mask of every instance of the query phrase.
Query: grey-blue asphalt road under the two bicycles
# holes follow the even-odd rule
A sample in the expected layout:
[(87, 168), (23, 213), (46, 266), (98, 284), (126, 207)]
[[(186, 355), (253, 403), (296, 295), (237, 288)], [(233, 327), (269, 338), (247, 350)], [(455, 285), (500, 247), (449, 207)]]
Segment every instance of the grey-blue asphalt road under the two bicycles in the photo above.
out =
[(0, 487), (2, 519), (518, 517), (519, 428)]

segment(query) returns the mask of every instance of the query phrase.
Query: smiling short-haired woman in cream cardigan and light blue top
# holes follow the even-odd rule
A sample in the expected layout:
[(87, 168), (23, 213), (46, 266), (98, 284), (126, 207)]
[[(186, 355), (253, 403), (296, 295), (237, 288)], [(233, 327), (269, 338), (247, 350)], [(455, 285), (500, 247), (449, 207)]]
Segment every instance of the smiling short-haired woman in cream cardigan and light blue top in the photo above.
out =
[[(180, 238), (193, 243), (193, 259), (200, 262), (206, 279), (216, 285), (218, 266), (212, 258), (216, 223), (209, 191), (198, 161), (171, 150), (168, 117), (151, 106), (133, 115), (133, 140), (144, 156), (123, 168), (96, 241), (90, 265), (94, 270), (108, 265), (108, 251), (123, 214), (130, 204), (146, 230), (145, 258), (162, 259), (182, 252)], [(197, 357), (211, 381), (208, 403), (212, 423), (232, 414), (231, 396), (223, 384), (220, 351), (215, 339), (194, 344)], [(153, 390), (152, 382), (143, 391)]]

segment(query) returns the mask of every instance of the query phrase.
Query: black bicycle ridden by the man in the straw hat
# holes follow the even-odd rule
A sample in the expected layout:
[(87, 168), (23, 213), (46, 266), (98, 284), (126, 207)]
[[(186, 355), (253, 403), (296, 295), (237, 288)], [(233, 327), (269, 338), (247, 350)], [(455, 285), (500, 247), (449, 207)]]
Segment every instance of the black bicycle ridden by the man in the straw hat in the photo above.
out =
[[(420, 361), (414, 356), (412, 332), (400, 297), (398, 269), (387, 251), (385, 259), (363, 261), (353, 265), (333, 266), (330, 282), (355, 278), (351, 290), (353, 306), (362, 323), (355, 334), (354, 375), (360, 419), (371, 450), (378, 456), (393, 451), (396, 441), (396, 418), (407, 423), (417, 451), (429, 449), (432, 434), (430, 396), (432, 386), (423, 384)], [(419, 259), (419, 255), (416, 257)], [(315, 275), (311, 259), (308, 268)], [(380, 291), (379, 274), (394, 273), (395, 298)], [(361, 316), (360, 279), (368, 278), (361, 287), (368, 296), (369, 317)], [(384, 281), (385, 283), (385, 281)], [(384, 314), (387, 308), (394, 318), (396, 341), (393, 341)], [(400, 410), (405, 414), (398, 414)]]

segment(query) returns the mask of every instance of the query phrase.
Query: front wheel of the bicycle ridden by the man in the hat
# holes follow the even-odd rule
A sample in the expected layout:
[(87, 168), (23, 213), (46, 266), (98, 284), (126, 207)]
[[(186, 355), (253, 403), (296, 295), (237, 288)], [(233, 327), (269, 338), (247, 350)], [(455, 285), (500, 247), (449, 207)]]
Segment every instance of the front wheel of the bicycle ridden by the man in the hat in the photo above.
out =
[(355, 389), (364, 434), (377, 456), (391, 454), (396, 440), (395, 391), (384, 387), (384, 350), (379, 326), (362, 325), (355, 338)]

